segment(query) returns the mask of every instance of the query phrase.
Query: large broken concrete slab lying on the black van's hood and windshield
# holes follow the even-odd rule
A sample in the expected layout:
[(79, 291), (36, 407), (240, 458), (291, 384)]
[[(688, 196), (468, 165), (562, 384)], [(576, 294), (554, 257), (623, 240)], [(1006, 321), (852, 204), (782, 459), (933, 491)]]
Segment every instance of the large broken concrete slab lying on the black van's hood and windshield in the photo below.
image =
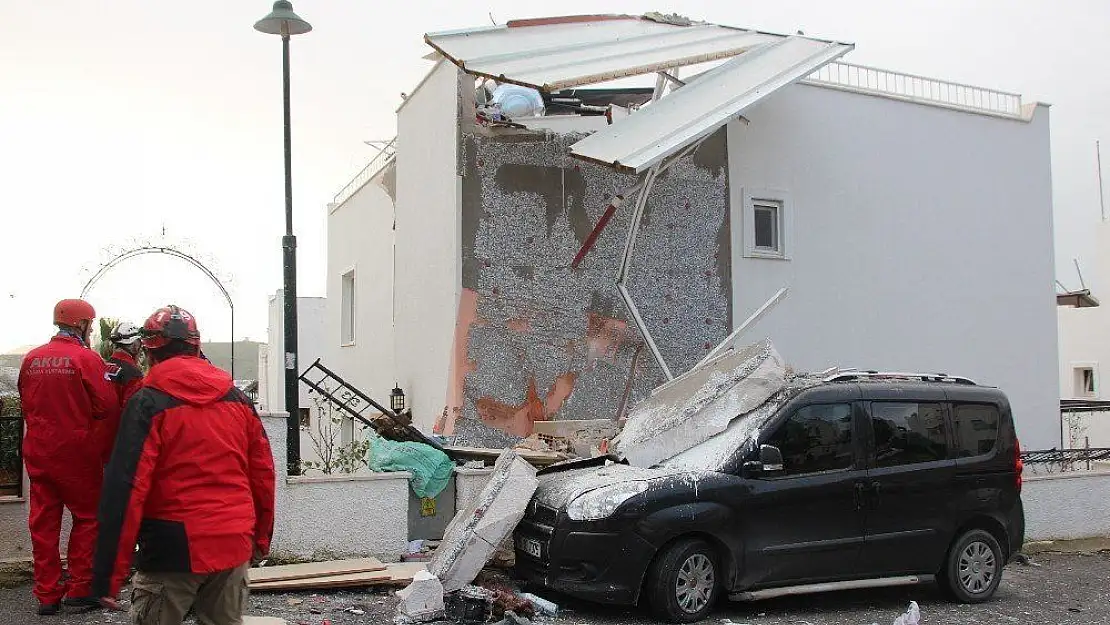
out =
[(786, 366), (770, 341), (730, 352), (637, 404), (614, 440), (614, 451), (634, 466), (654, 466), (724, 432), (785, 383)]

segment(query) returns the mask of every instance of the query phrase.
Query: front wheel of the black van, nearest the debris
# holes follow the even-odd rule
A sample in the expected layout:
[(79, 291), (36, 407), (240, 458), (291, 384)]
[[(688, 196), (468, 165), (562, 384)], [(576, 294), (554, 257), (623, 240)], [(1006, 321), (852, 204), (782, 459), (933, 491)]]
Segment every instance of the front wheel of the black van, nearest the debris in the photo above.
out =
[(669, 623), (705, 618), (720, 594), (717, 554), (696, 538), (672, 544), (652, 563), (645, 591), (659, 618)]

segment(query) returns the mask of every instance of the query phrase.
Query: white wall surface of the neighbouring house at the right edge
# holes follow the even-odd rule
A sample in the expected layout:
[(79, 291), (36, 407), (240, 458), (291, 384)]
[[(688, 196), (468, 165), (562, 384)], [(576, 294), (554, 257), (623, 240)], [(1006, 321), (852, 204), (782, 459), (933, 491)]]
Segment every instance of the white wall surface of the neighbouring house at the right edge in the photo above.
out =
[[(1083, 283), (1102, 305), (1090, 309), (1060, 306), (1057, 310), (1060, 335), (1060, 396), (1079, 397), (1076, 392), (1076, 367), (1094, 370), (1094, 397), (1110, 400), (1110, 223), (1097, 221), (1091, 225), (1096, 236), (1093, 262), (1082, 264)], [(1081, 283), (1073, 266), (1060, 268), (1060, 275), (1069, 289), (1080, 289)], [(1076, 446), (1083, 446), (1084, 437), (1092, 447), (1110, 447), (1110, 413), (1081, 415), (1081, 432)], [(1072, 446), (1071, 436), (1064, 434), (1064, 444)]]

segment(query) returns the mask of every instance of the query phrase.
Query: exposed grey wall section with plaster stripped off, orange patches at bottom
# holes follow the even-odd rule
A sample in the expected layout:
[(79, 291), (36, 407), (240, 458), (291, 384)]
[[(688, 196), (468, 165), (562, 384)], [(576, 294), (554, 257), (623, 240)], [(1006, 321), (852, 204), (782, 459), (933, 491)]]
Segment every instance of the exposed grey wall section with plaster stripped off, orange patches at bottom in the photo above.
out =
[[(437, 431), (504, 446), (536, 421), (619, 419), (664, 381), (616, 290), (637, 179), (568, 157), (581, 134), (466, 133), (462, 294), (452, 392)], [(725, 131), (650, 191), (627, 281), (673, 371), (731, 329)]]

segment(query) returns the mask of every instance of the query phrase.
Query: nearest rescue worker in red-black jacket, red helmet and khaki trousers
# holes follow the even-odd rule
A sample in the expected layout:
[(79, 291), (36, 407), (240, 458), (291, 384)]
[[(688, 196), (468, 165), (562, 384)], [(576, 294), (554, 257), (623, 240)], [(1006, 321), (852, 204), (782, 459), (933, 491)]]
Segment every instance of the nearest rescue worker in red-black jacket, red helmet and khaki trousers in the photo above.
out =
[(246, 569), (273, 534), (270, 443), (231, 375), (199, 357), (189, 312), (159, 309), (142, 334), (153, 365), (108, 463), (93, 592), (119, 607), (138, 541), (132, 623), (176, 625), (192, 609), (200, 623), (239, 624)]

